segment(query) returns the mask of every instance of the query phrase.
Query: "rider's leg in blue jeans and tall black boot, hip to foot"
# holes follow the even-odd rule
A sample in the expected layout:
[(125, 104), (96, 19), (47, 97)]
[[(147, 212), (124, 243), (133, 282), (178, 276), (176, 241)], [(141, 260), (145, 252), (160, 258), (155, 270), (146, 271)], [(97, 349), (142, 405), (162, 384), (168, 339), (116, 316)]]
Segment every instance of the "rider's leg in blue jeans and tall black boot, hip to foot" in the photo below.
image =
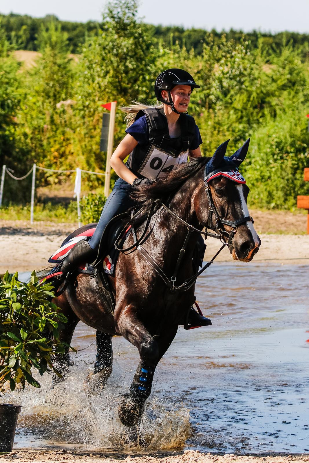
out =
[(99, 223), (96, 227), (95, 233), (91, 239), (79, 241), (69, 252), (67, 257), (59, 265), (57, 271), (47, 280), (52, 281), (53, 286), (57, 290), (60, 285), (65, 281), (66, 276), (73, 272), (81, 263), (91, 263), (97, 256), (102, 233), (108, 222), (113, 219), (115, 215), (125, 212), (127, 209), (134, 205), (133, 200), (130, 198), (132, 185), (122, 179), (118, 179), (115, 183), (112, 193), (107, 198)]

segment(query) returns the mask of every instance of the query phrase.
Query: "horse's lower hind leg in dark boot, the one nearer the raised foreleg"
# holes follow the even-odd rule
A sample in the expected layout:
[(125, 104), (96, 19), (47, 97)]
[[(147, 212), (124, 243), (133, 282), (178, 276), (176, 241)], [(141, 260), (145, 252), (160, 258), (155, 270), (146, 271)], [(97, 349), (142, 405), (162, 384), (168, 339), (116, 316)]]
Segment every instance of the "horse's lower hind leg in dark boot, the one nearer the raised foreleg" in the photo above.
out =
[(96, 362), (93, 372), (86, 378), (92, 390), (103, 389), (109, 376), (113, 371), (113, 346), (112, 336), (102, 331), (95, 333), (96, 339)]

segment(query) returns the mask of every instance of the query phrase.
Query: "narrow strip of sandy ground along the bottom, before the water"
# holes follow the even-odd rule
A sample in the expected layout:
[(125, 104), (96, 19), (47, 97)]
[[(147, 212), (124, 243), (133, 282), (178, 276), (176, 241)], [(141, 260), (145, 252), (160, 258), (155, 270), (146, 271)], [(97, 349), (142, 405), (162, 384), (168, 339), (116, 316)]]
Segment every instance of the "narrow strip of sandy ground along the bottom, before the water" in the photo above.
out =
[(309, 455), (265, 455), (264, 457), (245, 456), (239, 457), (233, 454), (212, 455), (201, 453), (198, 450), (185, 450), (184, 452), (169, 452), (161, 455), (120, 455), (107, 456), (101, 452), (74, 452), (66, 450), (17, 450), (0, 457), (0, 462), (48, 462), (48, 463), (288, 463), (308, 462)]

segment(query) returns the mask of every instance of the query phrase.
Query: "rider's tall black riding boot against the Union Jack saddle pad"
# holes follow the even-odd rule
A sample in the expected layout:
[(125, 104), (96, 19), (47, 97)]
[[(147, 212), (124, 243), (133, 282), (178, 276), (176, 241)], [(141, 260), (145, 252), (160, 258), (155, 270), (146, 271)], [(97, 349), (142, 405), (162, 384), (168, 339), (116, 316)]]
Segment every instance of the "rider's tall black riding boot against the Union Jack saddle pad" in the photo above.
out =
[[(90, 247), (87, 238), (76, 243), (67, 257), (65, 257), (63, 262), (57, 267), (56, 271), (45, 277), (46, 283), (51, 283), (55, 288), (55, 296), (60, 296), (60, 294), (63, 293), (67, 286), (69, 275), (74, 272), (80, 264), (92, 262), (94, 259), (95, 252)], [(63, 285), (62, 288), (60, 288), (61, 285)]]

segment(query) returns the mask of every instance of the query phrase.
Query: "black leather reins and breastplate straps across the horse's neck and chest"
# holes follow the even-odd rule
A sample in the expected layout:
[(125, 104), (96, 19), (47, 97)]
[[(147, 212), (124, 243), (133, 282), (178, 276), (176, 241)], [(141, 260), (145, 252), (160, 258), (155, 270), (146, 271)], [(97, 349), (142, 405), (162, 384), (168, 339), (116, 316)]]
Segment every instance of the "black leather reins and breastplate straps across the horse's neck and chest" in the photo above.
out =
[[(208, 177), (209, 176), (210, 175), (208, 175)], [(144, 242), (152, 232), (152, 230), (151, 230), (151, 232), (145, 237), (146, 232), (147, 232), (147, 228), (148, 228), (149, 223), (150, 223), (151, 215), (152, 215), (152, 212), (153, 212), (153, 203), (151, 204), (151, 207), (150, 207), (150, 210), (149, 210), (146, 222), (145, 222), (144, 230), (143, 230), (143, 232), (142, 232), (142, 234), (141, 234), (141, 236), (139, 238), (137, 238), (135, 229), (132, 226), (132, 236), (133, 236), (133, 243), (134, 244), (132, 246), (129, 246), (126, 249), (118, 247), (120, 245), (120, 242), (121, 242), (120, 237), (122, 235), (122, 232), (120, 233), (119, 237), (115, 241), (115, 248), (120, 252), (124, 253), (124, 252), (127, 252), (127, 251), (138, 250), (139, 253), (142, 254), (142, 256), (145, 257), (147, 262), (150, 263), (151, 267), (155, 270), (155, 272), (162, 278), (162, 280), (164, 281), (166, 286), (170, 289), (171, 293), (175, 293), (177, 291), (187, 291), (189, 288), (191, 288), (195, 284), (196, 278), (199, 275), (201, 275), (214, 262), (214, 259), (220, 254), (221, 250), (225, 246), (229, 246), (231, 244), (233, 236), (237, 232), (237, 227), (239, 225), (245, 223), (245, 222), (252, 222), (253, 223), (253, 219), (252, 219), (251, 216), (241, 217), (240, 219), (237, 219), (237, 220), (226, 220), (226, 219), (222, 219), (219, 216), (219, 213), (218, 213), (216, 207), (214, 206), (214, 201), (212, 199), (211, 191), (210, 191), (210, 188), (208, 186), (208, 181), (207, 181), (207, 176), (206, 176), (206, 166), (205, 166), (205, 170), (204, 170), (204, 184), (205, 184), (204, 189), (205, 189), (205, 192), (206, 192), (208, 205), (209, 205), (207, 227), (212, 229), (211, 221), (212, 221), (212, 218), (214, 217), (216, 233), (209, 233), (207, 227), (205, 227), (205, 232), (203, 232), (202, 230), (199, 230), (198, 228), (195, 228), (193, 225), (190, 225), (185, 220), (181, 219), (181, 217), (179, 217), (168, 206), (166, 206), (164, 203), (161, 202), (161, 207), (163, 207), (168, 213), (170, 213), (170, 215), (172, 215), (177, 220), (182, 222), (183, 225), (186, 225), (187, 230), (188, 230), (188, 233), (187, 233), (187, 236), (186, 236), (186, 238), (184, 240), (183, 246), (182, 246), (182, 248), (181, 248), (181, 250), (179, 252), (179, 256), (178, 256), (178, 259), (177, 259), (175, 270), (174, 270), (173, 275), (171, 276), (170, 279), (168, 278), (168, 276), (165, 275), (164, 271), (161, 269), (161, 267), (159, 267), (159, 265), (151, 257), (151, 255), (148, 253), (148, 251), (146, 251), (145, 248), (143, 248), (143, 246), (141, 245), (141, 243)], [(133, 219), (137, 215), (139, 215), (139, 212), (133, 217)], [(228, 233), (224, 229), (224, 227), (222, 225), (230, 226), (231, 231)], [(200, 233), (201, 235), (204, 236), (205, 239), (207, 239), (208, 236), (211, 237), (211, 238), (220, 239), (220, 241), (222, 243), (222, 246), (215, 253), (214, 257), (212, 257), (212, 259), (208, 263), (206, 263), (206, 265), (204, 265), (201, 270), (199, 270), (197, 273), (195, 273), (195, 275), (191, 276), (190, 278), (187, 278), (182, 284), (177, 286), (176, 285), (176, 278), (177, 278), (178, 270), (179, 270), (180, 265), (182, 263), (184, 253), (186, 251), (187, 244), (189, 243), (189, 238), (190, 238), (191, 234), (194, 233), (194, 232), (195, 233)], [(225, 239), (226, 236), (228, 237), (227, 239)]]

